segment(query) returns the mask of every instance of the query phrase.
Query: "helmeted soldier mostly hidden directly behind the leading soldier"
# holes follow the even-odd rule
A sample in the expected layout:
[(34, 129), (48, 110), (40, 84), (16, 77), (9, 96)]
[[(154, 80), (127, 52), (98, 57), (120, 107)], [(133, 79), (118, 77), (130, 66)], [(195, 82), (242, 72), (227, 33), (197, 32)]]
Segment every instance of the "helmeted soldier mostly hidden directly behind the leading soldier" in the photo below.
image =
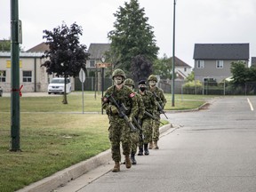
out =
[[(130, 87), (134, 91), (135, 84), (134, 84), (134, 81), (132, 79), (130, 79), (130, 78), (125, 79), (124, 85)], [(136, 93), (135, 96), (136, 96), (136, 100), (138, 102), (138, 108), (139, 108), (138, 114), (135, 116), (135, 118), (136, 118), (138, 124), (140, 124), (140, 126), (141, 126), (141, 122), (142, 122), (142, 118), (143, 118), (143, 115), (144, 115), (144, 112), (145, 112), (145, 108), (144, 108), (143, 100), (142, 100), (140, 94)], [(134, 125), (136, 125), (136, 124), (134, 124)], [(140, 128), (138, 128), (137, 132), (131, 132), (131, 137), (132, 137), (131, 161), (132, 161), (132, 164), (137, 164), (137, 161), (135, 159), (135, 154), (137, 153), (137, 148), (138, 148), (138, 145), (139, 145), (139, 141), (142, 140), (142, 130), (140, 130)]]

